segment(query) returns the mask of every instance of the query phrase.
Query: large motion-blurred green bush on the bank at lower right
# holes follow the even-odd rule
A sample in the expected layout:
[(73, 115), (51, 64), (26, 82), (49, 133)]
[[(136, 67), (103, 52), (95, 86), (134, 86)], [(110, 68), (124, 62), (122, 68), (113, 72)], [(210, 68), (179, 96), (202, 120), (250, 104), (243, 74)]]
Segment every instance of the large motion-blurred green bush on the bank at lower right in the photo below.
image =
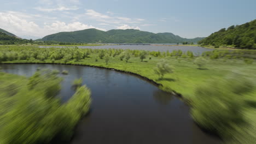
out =
[(191, 115), (202, 128), (230, 138), (244, 122), (243, 95), (251, 92), (253, 83), (241, 75), (215, 79), (196, 88)]

